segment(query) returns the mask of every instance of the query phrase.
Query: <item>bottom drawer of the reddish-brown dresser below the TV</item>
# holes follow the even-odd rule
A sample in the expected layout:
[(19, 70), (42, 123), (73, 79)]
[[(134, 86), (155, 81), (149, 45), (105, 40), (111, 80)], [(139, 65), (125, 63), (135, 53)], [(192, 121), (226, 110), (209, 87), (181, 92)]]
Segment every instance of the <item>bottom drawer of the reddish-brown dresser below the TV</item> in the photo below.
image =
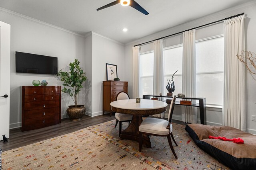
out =
[(49, 115), (49, 116), (43, 116), (43, 117), (36, 117), (31, 119), (25, 119), (24, 120), (24, 126), (44, 126), (44, 125), (54, 125), (60, 123), (59, 121), (59, 115)]

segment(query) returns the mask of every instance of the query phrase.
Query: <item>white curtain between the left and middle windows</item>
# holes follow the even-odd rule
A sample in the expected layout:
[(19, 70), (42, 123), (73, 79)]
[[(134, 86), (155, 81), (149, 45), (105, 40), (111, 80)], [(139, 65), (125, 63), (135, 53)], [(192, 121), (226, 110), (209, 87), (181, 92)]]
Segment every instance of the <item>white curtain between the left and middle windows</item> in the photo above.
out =
[[(164, 61), (163, 61), (163, 40), (154, 41), (154, 74), (153, 74), (153, 94), (159, 95), (164, 92)], [(164, 113), (154, 115), (164, 117)]]

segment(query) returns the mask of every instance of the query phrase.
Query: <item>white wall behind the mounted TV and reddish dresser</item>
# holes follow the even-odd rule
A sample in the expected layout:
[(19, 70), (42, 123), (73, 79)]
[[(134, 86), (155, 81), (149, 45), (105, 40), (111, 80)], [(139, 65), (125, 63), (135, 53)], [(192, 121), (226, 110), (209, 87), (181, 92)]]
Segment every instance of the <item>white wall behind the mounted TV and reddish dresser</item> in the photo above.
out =
[[(15, 51), (58, 57), (59, 69), (67, 69), (68, 63), (77, 58), (83, 68), (85, 39), (53, 25), (2, 10), (0, 10), (0, 21), (11, 25), (10, 128), (14, 128), (19, 127), (20, 121), (20, 86), (32, 86), (32, 80), (46, 80), (48, 86), (62, 84), (53, 75), (16, 73)], [(62, 117), (66, 117), (66, 108), (71, 104), (71, 98), (63, 94)], [(80, 104), (85, 104), (85, 98), (80, 99)]]

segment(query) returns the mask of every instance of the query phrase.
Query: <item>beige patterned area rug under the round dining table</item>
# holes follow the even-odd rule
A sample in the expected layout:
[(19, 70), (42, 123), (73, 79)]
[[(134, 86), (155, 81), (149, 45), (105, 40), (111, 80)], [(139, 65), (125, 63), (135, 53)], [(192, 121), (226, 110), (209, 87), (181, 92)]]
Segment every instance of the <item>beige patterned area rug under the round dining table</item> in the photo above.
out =
[[(199, 149), (184, 125), (173, 123), (176, 159), (166, 137), (151, 136), (152, 148), (120, 140), (115, 120), (2, 153), (3, 170), (205, 170), (228, 169)], [(127, 123), (123, 123), (125, 129)]]

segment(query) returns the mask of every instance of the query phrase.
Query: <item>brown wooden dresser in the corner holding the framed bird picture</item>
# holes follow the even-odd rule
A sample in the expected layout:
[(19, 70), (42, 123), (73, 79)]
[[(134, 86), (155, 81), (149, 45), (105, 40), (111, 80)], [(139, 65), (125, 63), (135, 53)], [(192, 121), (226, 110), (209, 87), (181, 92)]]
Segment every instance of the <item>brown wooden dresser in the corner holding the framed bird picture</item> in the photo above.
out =
[(116, 101), (116, 95), (122, 91), (128, 93), (128, 82), (103, 81), (103, 114), (109, 111), (112, 115), (110, 103)]

